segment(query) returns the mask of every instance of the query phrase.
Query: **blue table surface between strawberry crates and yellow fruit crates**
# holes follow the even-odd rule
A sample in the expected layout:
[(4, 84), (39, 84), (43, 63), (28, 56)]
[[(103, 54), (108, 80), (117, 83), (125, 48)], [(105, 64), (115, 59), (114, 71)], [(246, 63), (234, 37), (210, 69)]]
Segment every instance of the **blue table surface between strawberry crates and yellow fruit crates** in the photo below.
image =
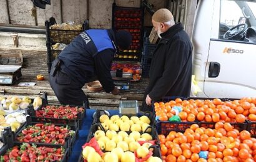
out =
[[(81, 154), (82, 151), (82, 145), (86, 143), (87, 140), (87, 135), (89, 134), (91, 125), (92, 125), (92, 120), (93, 120), (93, 113), (96, 112), (96, 110), (92, 109), (87, 109), (86, 110), (86, 116), (84, 117), (84, 120), (82, 122), (82, 128), (79, 130), (79, 135), (76, 140), (75, 145), (72, 148), (72, 153), (71, 156), (69, 157), (69, 161), (78, 161), (79, 155)], [(108, 112), (111, 115), (117, 115), (119, 111), (117, 110), (108, 110)]]

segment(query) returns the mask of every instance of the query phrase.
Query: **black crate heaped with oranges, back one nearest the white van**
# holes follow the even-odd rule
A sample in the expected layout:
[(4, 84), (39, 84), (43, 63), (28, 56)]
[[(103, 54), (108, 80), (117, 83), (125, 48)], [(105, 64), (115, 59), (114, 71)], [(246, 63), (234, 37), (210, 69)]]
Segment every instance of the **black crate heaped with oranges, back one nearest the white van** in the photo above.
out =
[[(253, 120), (256, 131), (255, 98), (163, 98), (163, 102), (154, 103), (159, 133), (185, 131), (193, 122), (205, 128), (214, 128), (217, 122), (229, 122), (235, 129), (248, 130), (247, 120)], [(179, 107), (179, 113), (174, 111)], [(170, 122), (177, 116), (181, 122)], [(167, 130), (167, 131), (166, 131)], [(254, 131), (254, 132), (255, 132)], [(250, 131), (252, 133), (252, 131)]]

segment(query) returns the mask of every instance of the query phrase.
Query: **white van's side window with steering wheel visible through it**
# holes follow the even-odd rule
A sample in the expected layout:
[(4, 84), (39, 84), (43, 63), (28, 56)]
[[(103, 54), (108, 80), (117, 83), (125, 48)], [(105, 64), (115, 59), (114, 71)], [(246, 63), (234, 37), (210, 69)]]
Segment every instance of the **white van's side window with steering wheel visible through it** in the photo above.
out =
[(220, 0), (219, 39), (256, 43), (256, 2)]

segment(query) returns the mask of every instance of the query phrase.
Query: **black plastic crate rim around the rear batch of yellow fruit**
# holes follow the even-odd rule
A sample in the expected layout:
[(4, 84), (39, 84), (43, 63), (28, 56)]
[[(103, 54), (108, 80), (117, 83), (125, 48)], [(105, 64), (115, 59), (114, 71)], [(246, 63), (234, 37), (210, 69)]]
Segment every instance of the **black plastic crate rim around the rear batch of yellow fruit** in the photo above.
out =
[[(94, 123), (101, 123), (101, 122), (99, 121), (99, 118), (100, 118), (101, 115), (103, 115), (103, 114), (108, 115), (104, 110), (96, 110), (96, 115), (95, 115), (94, 121), (93, 121), (92, 123), (93, 123), (93, 124), (94, 124)], [(152, 112), (139, 112), (139, 113), (137, 113), (137, 115), (126, 115), (126, 116), (130, 118), (130, 117), (133, 117), (133, 116), (142, 117), (143, 115), (149, 117), (149, 120), (150, 120), (150, 124), (149, 124), (149, 125), (154, 126), (154, 127), (156, 126), (155, 117), (154, 117), (154, 115), (153, 115)], [(108, 115), (108, 116), (109, 116), (109, 115)], [(111, 118), (111, 117), (112, 117), (112, 116), (109, 116), (109, 118)], [(119, 117), (122, 117), (122, 115), (119, 114)]]

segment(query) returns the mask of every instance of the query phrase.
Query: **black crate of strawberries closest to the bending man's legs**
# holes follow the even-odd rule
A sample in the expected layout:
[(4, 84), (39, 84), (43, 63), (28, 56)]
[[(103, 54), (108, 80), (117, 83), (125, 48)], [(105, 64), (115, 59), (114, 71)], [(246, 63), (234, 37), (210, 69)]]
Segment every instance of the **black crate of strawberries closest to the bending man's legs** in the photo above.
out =
[[(47, 96), (44, 96), (47, 101)], [(71, 105), (48, 105), (44, 102), (41, 107), (34, 110), (33, 107), (26, 109), (27, 115), (31, 116), (32, 122), (43, 123), (62, 123), (64, 125), (74, 125), (76, 128), (81, 128), (82, 120), (86, 115), (86, 105), (84, 102), (82, 106)]]

